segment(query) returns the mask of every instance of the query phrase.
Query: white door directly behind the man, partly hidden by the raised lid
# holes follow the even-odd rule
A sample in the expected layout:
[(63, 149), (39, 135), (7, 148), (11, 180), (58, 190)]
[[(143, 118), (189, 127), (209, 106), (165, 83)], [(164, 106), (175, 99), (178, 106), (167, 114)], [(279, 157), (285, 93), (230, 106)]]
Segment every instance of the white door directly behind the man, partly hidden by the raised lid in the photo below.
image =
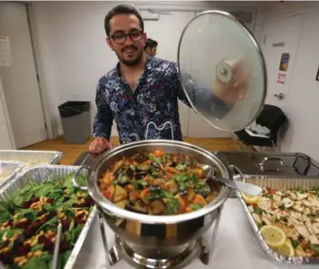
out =
[[(149, 39), (158, 42), (156, 57), (177, 62), (178, 42), (185, 25), (194, 17), (194, 12), (170, 12), (160, 14), (158, 21), (145, 21), (145, 30)], [(183, 136), (190, 136), (190, 108), (179, 100), (179, 112)]]

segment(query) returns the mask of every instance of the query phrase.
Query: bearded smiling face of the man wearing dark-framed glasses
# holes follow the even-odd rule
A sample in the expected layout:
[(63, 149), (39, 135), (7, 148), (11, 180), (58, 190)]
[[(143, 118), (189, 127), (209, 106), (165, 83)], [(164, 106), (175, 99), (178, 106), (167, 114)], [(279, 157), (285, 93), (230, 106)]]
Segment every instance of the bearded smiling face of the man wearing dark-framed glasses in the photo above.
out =
[[(125, 37), (128, 33), (131, 37)], [(122, 64), (137, 65), (144, 53), (146, 33), (142, 32), (137, 16), (118, 14), (111, 18), (107, 42)]]

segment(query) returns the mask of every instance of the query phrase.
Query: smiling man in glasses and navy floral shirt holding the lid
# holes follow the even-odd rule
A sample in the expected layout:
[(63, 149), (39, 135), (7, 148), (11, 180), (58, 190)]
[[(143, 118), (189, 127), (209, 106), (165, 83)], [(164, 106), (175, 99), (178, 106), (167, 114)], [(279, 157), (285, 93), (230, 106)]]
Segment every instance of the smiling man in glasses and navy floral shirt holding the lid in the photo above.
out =
[[(105, 17), (106, 41), (119, 58), (119, 63), (102, 76), (97, 85), (97, 113), (93, 124), (93, 143), (90, 152), (111, 149), (111, 126), (115, 120), (120, 143), (145, 139), (146, 126), (153, 121), (163, 126), (173, 125), (175, 140), (182, 141), (178, 99), (190, 106), (179, 80), (177, 65), (144, 53), (146, 33), (144, 22), (137, 10), (129, 5), (114, 7)], [(242, 77), (235, 69), (235, 77)], [(239, 69), (238, 69), (239, 70)], [(217, 81), (217, 80), (216, 80)], [(231, 85), (214, 85), (216, 111), (242, 100), (243, 80)], [(227, 90), (227, 91), (226, 91)], [(207, 101), (207, 100), (206, 100)], [(158, 131), (150, 128), (149, 139), (172, 139), (169, 128)]]

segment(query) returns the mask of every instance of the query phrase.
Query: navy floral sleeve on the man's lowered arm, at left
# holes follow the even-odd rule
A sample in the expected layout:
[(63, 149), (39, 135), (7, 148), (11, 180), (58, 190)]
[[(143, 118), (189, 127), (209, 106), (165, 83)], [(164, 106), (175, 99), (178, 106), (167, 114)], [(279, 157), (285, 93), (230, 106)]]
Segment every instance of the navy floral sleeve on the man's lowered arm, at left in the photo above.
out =
[(97, 85), (95, 96), (97, 112), (93, 123), (93, 136), (94, 138), (102, 136), (105, 139), (110, 140), (113, 114), (105, 100), (105, 91), (105, 86), (100, 80)]

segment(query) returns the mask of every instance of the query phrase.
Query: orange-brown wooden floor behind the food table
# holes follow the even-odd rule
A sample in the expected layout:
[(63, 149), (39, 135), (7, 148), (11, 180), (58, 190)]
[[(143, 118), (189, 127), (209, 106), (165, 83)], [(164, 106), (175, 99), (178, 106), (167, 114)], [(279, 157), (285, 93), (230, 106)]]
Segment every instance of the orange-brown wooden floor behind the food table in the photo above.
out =
[[(90, 139), (86, 144), (66, 144), (64, 138), (60, 137), (55, 140), (48, 140), (41, 143), (31, 145), (26, 150), (34, 151), (58, 151), (64, 152), (65, 156), (61, 160), (61, 164), (71, 165), (81, 155), (81, 153), (88, 151), (89, 144), (93, 141)], [(229, 143), (232, 143), (232, 151), (240, 151), (240, 145), (234, 143), (232, 138), (191, 138), (186, 137), (184, 141), (198, 145), (209, 152), (226, 152), (228, 151)], [(111, 137), (111, 143), (119, 145), (118, 137)], [(253, 151), (253, 149), (251, 149)]]

